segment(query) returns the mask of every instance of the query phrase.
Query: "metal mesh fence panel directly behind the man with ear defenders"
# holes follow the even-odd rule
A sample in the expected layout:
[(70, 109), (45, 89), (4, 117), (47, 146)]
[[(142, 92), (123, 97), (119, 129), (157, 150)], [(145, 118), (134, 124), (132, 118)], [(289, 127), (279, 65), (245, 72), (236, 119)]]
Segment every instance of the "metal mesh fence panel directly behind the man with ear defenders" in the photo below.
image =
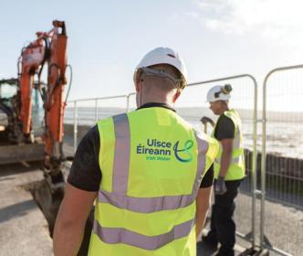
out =
[[(230, 83), (233, 87), (230, 107), (239, 112), (244, 133), (244, 145), (246, 148), (246, 179), (240, 187), (240, 195), (237, 197), (235, 208), (235, 222), (237, 234), (243, 238), (251, 235), (252, 247), (255, 247), (256, 233), (256, 106), (257, 88), (254, 77), (244, 74), (215, 80), (205, 80), (188, 85), (183, 91), (175, 108), (183, 118), (192, 123), (201, 131), (205, 131), (200, 122), (202, 116), (211, 117), (214, 121), (217, 117), (209, 110), (206, 102), (207, 91), (214, 85)], [(207, 133), (213, 129), (208, 127)]]

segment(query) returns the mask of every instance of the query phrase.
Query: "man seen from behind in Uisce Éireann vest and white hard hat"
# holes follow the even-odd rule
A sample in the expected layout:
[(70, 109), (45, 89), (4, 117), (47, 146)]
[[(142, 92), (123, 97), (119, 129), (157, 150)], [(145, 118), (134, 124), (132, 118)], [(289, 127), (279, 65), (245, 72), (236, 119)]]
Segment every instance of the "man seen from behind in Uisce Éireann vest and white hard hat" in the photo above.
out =
[(174, 50), (151, 50), (133, 80), (138, 109), (100, 120), (78, 145), (57, 215), (56, 256), (77, 254), (95, 199), (89, 255), (196, 255), (219, 144), (172, 108), (187, 80)]

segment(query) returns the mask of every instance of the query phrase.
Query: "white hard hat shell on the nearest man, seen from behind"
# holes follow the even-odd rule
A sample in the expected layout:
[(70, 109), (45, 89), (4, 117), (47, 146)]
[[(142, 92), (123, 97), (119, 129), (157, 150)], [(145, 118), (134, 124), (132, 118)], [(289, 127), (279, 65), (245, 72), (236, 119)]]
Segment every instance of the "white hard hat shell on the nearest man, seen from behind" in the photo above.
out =
[(187, 71), (183, 59), (172, 48), (154, 48), (148, 52), (137, 65), (133, 79), (135, 80), (138, 69), (158, 64), (172, 65), (172, 67), (180, 71), (185, 82), (187, 81)]

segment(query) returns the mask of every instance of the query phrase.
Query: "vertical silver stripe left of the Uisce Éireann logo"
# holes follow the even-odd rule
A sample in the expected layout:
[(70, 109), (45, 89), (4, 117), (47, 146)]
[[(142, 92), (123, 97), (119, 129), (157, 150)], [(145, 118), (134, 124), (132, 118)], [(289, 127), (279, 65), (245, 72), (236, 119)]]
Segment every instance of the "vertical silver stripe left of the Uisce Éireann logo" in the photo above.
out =
[(115, 156), (112, 191), (114, 193), (126, 194), (131, 158), (130, 123), (125, 113), (113, 116), (113, 123), (115, 129)]

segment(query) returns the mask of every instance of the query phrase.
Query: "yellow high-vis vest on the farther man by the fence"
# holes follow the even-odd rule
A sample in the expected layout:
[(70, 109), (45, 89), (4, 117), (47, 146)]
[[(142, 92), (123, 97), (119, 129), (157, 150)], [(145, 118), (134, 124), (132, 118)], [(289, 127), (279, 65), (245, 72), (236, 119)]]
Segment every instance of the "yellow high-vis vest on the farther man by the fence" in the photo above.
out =
[[(242, 122), (235, 110), (224, 112), (225, 116), (231, 119), (235, 125), (235, 136), (233, 144), (232, 160), (228, 167), (225, 180), (239, 180), (246, 176), (246, 164), (243, 147)], [(215, 128), (214, 128), (215, 130)], [(214, 133), (213, 133), (214, 137)], [(221, 166), (222, 145), (220, 144), (219, 154), (214, 160), (214, 177), (218, 178)]]

